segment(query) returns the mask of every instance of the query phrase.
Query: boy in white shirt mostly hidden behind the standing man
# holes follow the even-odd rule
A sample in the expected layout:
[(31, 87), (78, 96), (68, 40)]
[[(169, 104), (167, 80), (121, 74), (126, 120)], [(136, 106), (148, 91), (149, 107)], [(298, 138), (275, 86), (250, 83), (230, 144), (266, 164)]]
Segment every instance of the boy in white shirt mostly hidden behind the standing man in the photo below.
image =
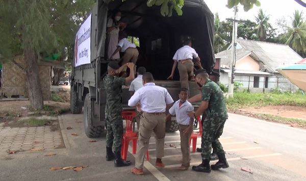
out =
[[(129, 91), (131, 92), (131, 95), (134, 95), (134, 93), (143, 87), (142, 85), (142, 75), (146, 72), (146, 69), (144, 67), (139, 67), (137, 69), (137, 77), (134, 79), (130, 85)], [(135, 116), (136, 122), (137, 122), (137, 130), (139, 130), (139, 122), (140, 122), (140, 112), (136, 110), (137, 114)]]

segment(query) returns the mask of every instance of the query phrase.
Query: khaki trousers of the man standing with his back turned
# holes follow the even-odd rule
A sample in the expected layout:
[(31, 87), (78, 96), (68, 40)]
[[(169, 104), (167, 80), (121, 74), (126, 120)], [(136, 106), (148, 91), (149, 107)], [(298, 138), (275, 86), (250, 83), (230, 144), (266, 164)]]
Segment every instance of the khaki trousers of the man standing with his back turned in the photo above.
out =
[(140, 116), (139, 136), (137, 141), (137, 152), (135, 156), (135, 167), (143, 168), (144, 157), (149, 147), (151, 133), (155, 133), (156, 158), (164, 157), (166, 118), (165, 114), (154, 115), (142, 113)]

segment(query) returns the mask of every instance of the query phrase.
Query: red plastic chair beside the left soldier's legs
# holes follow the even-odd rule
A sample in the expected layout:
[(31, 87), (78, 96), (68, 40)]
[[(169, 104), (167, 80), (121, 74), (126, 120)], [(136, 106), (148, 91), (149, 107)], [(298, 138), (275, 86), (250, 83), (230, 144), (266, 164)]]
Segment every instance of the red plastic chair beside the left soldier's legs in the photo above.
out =
[[(123, 160), (126, 160), (127, 150), (129, 149), (129, 143), (132, 141), (132, 153), (136, 154), (138, 134), (133, 132), (133, 119), (135, 118), (135, 111), (123, 111), (122, 118), (126, 122), (125, 132), (122, 137), (122, 149), (121, 156)], [(147, 160), (149, 161), (149, 152), (147, 151)]]

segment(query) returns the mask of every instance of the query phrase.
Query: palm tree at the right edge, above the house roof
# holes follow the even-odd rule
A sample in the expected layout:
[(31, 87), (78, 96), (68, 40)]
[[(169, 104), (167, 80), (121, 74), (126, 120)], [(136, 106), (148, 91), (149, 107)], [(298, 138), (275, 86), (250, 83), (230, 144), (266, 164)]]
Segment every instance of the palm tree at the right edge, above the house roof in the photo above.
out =
[(295, 10), (293, 13), (292, 28), (288, 30), (288, 40), (286, 44), (298, 53), (306, 53), (306, 22), (304, 22), (303, 12)]

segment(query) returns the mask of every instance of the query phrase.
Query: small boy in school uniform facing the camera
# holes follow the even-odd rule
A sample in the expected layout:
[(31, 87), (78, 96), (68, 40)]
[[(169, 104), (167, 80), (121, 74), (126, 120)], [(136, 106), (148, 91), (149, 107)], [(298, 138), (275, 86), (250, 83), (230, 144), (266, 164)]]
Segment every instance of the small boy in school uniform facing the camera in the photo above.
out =
[(190, 166), (190, 147), (189, 139), (193, 131), (193, 118), (188, 116), (188, 112), (193, 111), (193, 106), (188, 102), (189, 91), (187, 88), (182, 88), (179, 94), (180, 99), (177, 100), (169, 109), (167, 120), (171, 119), (171, 115), (176, 115), (176, 122), (179, 124), (181, 137), (181, 150), (183, 156), (182, 166), (179, 170), (187, 170)]

